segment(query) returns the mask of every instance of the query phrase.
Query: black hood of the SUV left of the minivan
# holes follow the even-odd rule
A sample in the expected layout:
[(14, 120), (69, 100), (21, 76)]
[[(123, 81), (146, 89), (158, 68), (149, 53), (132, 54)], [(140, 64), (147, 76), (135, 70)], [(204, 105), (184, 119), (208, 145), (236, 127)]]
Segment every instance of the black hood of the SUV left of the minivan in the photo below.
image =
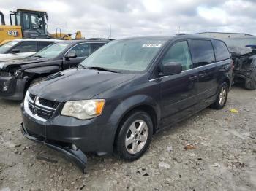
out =
[(48, 58), (38, 58), (29, 56), (26, 58), (19, 58), (19, 59), (13, 59), (13, 60), (7, 60), (7, 61), (0, 61), (0, 69), (6, 69), (7, 66), (20, 66), (23, 64), (29, 64), (29, 63), (39, 63), (39, 62), (45, 62), (48, 61)]

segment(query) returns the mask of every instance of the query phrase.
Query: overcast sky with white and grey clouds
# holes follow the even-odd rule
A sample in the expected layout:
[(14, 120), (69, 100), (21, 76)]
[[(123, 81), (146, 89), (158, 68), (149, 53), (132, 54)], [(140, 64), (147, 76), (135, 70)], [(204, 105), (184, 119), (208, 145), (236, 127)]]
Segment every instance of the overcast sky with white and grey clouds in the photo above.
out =
[[(225, 31), (256, 34), (256, 0), (0, 0), (6, 17), (17, 8), (48, 12), (56, 27), (83, 36), (112, 38)], [(179, 29), (180, 28), (180, 29)]]

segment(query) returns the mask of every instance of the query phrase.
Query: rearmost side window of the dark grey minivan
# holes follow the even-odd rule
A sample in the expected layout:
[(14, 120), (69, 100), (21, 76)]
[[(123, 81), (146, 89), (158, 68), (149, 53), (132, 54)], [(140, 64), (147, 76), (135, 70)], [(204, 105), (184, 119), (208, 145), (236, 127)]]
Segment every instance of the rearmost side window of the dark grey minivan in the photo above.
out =
[(214, 52), (216, 56), (216, 61), (224, 61), (230, 58), (230, 52), (224, 42), (219, 40), (213, 40), (214, 42)]

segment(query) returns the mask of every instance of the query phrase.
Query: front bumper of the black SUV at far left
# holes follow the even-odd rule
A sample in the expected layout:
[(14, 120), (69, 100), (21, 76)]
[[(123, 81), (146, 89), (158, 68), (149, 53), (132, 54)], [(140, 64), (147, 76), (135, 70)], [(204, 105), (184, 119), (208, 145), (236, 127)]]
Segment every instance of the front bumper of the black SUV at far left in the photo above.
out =
[[(8, 100), (22, 100), (26, 78), (0, 77), (0, 97)], [(5, 90), (4, 90), (5, 89)]]

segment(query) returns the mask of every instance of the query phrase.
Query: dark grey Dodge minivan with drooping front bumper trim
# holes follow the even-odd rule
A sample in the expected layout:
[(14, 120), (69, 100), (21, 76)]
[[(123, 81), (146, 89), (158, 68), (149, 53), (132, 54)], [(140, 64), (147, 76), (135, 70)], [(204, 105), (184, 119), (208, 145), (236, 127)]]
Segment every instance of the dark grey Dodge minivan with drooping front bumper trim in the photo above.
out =
[(22, 104), (27, 138), (85, 168), (84, 152), (146, 152), (154, 133), (227, 101), (233, 62), (225, 42), (200, 36), (110, 42), (80, 63), (32, 85)]

